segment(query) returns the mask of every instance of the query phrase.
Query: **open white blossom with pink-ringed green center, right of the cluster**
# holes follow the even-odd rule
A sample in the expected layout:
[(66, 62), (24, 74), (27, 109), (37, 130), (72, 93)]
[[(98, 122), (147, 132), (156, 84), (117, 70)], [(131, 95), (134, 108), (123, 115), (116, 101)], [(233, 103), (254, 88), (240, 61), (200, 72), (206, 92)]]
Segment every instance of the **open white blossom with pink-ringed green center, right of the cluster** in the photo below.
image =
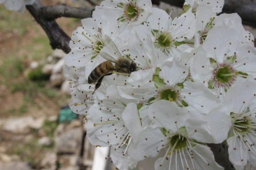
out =
[(236, 80), (256, 77), (255, 48), (238, 45), (238, 41), (234, 29), (217, 27), (209, 31), (202, 47), (190, 53), (193, 80), (213, 89), (221, 99)]

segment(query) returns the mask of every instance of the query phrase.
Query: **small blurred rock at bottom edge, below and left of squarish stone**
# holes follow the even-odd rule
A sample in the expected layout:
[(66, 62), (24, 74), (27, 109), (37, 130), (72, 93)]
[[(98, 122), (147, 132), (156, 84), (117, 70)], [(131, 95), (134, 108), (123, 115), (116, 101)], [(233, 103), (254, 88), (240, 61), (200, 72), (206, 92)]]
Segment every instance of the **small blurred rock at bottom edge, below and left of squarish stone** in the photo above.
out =
[(57, 155), (54, 152), (47, 152), (42, 159), (40, 166), (48, 170), (55, 170), (57, 161)]

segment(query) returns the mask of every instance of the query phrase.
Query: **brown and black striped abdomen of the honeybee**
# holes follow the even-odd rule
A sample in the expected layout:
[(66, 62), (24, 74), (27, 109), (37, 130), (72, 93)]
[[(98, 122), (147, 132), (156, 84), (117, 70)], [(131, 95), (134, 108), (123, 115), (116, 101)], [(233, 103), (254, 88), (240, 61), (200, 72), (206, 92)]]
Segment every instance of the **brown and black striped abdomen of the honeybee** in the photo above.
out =
[(112, 72), (113, 70), (114, 66), (110, 61), (105, 61), (99, 64), (89, 75), (88, 83), (91, 84), (97, 82), (102, 76)]

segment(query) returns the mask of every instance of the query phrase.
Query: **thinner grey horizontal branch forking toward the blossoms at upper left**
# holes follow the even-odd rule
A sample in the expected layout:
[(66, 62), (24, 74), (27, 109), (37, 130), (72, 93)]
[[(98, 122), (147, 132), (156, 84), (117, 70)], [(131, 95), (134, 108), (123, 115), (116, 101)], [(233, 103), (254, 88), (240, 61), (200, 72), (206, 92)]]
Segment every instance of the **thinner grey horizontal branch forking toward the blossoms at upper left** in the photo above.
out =
[(92, 16), (93, 8), (76, 8), (72, 6), (67, 6), (66, 4), (46, 6), (42, 9), (42, 14), (46, 18), (56, 19), (59, 17), (68, 18), (79, 18), (84, 19)]

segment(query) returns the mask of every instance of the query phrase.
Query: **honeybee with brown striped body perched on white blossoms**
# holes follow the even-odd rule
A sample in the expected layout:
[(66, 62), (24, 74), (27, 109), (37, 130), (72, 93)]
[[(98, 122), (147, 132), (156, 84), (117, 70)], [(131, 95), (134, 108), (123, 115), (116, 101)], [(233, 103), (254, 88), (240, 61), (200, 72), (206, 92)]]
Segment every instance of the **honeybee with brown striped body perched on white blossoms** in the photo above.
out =
[[(111, 75), (113, 72), (120, 74), (130, 74), (136, 71), (136, 63), (133, 63), (128, 58), (124, 58), (118, 51), (113, 41), (110, 41), (106, 47), (100, 51), (102, 57), (107, 61), (100, 63), (88, 77), (88, 83), (95, 85), (95, 90), (101, 85), (104, 76)], [(114, 57), (118, 58), (115, 59)], [(114, 65), (112, 63), (115, 63)]]

